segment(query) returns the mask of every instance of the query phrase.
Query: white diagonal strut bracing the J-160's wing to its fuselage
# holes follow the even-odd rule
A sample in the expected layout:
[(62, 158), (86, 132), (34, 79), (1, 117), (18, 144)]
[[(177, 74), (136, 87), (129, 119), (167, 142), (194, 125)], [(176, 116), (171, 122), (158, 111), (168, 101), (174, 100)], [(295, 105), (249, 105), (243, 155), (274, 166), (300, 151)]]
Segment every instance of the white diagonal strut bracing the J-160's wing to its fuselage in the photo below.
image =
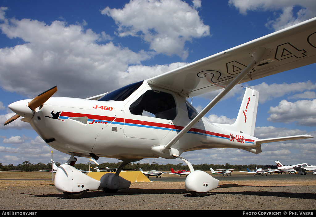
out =
[(232, 80), (224, 90), (222, 90), (193, 120), (190, 121), (165, 147), (170, 149), (186, 132), (188, 132), (201, 118), (213, 108), (235, 85), (237, 85), (257, 64), (253, 60), (234, 80)]

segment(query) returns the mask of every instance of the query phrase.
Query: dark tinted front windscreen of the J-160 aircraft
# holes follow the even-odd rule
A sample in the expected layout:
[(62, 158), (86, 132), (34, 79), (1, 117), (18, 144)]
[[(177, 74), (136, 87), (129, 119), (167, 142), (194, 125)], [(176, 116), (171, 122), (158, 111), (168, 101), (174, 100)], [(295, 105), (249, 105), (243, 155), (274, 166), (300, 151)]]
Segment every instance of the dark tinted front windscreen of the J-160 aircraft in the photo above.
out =
[(121, 87), (114, 91), (108, 92), (106, 95), (98, 99), (98, 101), (124, 101), (127, 97), (129, 97), (134, 91), (138, 89), (143, 84), (143, 81), (139, 81), (137, 83), (133, 83), (127, 85), (125, 87)]

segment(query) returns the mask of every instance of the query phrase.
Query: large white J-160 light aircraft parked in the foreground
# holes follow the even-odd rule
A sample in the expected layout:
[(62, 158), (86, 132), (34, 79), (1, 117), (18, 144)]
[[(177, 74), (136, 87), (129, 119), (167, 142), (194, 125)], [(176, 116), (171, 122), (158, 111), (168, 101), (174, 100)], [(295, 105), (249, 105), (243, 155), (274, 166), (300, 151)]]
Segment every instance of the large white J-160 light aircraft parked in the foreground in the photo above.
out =
[[(261, 144), (312, 138), (254, 137), (258, 91), (246, 88), (236, 122), (213, 124), (203, 116), (235, 85), (316, 62), (316, 18), (290, 26), (186, 66), (86, 99), (52, 97), (53, 87), (34, 99), (9, 105), (30, 123), (52, 148), (70, 155), (55, 176), (55, 187), (70, 198), (99, 188), (117, 191), (131, 182), (119, 176), (124, 166), (144, 158), (180, 158), (190, 169), (185, 188), (194, 196), (216, 189), (219, 180), (194, 170), (183, 152), (234, 148), (258, 154)], [(284, 74), (286, 76), (286, 74)], [(222, 91), (200, 112), (187, 101), (210, 91)], [(149, 117), (145, 113), (151, 113)], [(70, 166), (75, 156), (116, 158), (116, 173), (100, 180)], [(73, 173), (72, 173), (73, 172)], [(72, 173), (72, 176), (68, 174)]]

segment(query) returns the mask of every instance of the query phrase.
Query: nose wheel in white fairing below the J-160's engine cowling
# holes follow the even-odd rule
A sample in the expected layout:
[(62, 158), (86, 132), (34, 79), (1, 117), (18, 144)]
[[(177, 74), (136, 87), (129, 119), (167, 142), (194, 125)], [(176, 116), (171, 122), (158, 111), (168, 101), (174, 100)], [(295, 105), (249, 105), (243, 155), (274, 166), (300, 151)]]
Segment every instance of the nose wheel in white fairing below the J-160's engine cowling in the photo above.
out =
[(71, 153), (69, 160), (60, 165), (55, 174), (55, 187), (70, 199), (82, 198), (87, 191), (97, 190), (100, 181), (93, 179), (71, 166), (76, 161), (75, 154)]

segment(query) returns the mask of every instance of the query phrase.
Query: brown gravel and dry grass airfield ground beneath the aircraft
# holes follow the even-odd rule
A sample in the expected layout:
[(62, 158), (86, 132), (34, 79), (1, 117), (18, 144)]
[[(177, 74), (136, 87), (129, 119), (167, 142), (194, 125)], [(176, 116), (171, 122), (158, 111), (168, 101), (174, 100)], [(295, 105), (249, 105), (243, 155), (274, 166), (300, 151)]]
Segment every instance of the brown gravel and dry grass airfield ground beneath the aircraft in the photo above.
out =
[[(238, 177), (238, 172), (235, 173)], [(282, 176), (292, 176), (283, 179)], [(316, 210), (316, 175), (248, 175), (249, 180), (233, 180), (234, 173), (220, 180), (207, 196), (194, 197), (179, 181), (132, 183), (115, 194), (102, 189), (88, 191), (82, 199), (67, 199), (56, 190), (52, 175), (45, 172), (0, 173), (0, 209), (3, 210)], [(278, 176), (280, 179), (278, 179)], [(292, 179), (293, 178), (293, 179)], [(49, 180), (51, 179), (51, 180)], [(316, 214), (316, 211), (313, 212)]]

